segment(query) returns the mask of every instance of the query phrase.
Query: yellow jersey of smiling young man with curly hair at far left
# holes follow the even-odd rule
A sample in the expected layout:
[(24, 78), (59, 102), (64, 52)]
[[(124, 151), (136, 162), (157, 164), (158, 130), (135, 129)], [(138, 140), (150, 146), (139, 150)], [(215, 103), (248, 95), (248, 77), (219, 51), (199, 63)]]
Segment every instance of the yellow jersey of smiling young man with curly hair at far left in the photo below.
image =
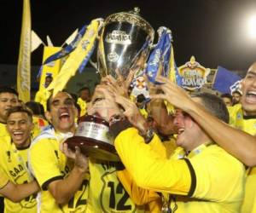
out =
[[(27, 152), (28, 147), (25, 149), (17, 149), (15, 144), (9, 140), (4, 141), (0, 149), (0, 167), (9, 181), (15, 184), (23, 184), (33, 180), (27, 169)], [(5, 213), (30, 213), (37, 212), (37, 193), (32, 194), (20, 201), (14, 203), (9, 199), (4, 199), (4, 212)]]

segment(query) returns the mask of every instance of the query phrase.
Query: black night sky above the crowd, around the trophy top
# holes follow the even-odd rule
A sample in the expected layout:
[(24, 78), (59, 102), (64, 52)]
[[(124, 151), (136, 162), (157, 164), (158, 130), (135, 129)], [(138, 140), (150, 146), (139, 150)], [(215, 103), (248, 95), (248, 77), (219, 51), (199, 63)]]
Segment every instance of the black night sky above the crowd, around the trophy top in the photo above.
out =
[[(135, 6), (155, 31), (160, 26), (172, 30), (177, 66), (191, 55), (202, 66), (230, 70), (247, 70), (256, 60), (256, 39), (249, 39), (245, 31), (247, 15), (256, 14), (256, 0), (31, 0), (32, 29), (44, 43), (49, 35), (58, 46), (90, 20)], [(0, 0), (0, 8), (0, 64), (17, 64), (22, 1)], [(41, 64), (42, 54), (43, 46), (32, 54), (32, 65)]]

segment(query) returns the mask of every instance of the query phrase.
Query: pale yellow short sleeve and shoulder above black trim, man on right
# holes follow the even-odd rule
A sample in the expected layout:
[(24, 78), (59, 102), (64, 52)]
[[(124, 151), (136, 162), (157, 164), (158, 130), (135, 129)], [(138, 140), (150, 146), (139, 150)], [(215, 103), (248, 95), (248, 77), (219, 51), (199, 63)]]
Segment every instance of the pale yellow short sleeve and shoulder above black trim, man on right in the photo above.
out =
[(217, 145), (190, 159), (196, 173), (197, 199), (241, 200), (244, 184), (244, 166)]

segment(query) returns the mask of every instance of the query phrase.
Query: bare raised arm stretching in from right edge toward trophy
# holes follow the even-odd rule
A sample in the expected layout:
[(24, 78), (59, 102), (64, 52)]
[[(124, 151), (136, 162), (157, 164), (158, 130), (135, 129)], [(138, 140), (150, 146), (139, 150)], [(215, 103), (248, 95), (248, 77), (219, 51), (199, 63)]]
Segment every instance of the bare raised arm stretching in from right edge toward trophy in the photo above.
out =
[(230, 127), (228, 124), (224, 124), (167, 78), (159, 77), (157, 80), (164, 83), (160, 85), (164, 94), (154, 95), (152, 98), (165, 99), (175, 107), (188, 112), (219, 146), (240, 159), (242, 163), (248, 166), (256, 165), (256, 136), (248, 135), (241, 130)]

